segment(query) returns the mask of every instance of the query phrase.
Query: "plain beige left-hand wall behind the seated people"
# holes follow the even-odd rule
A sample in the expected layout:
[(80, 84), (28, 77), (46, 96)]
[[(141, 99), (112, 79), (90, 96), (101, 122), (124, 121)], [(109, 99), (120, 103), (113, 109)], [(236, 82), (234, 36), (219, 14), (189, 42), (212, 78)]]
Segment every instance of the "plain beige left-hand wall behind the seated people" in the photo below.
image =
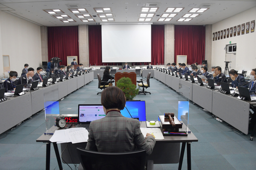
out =
[(0, 61), (9, 55), (11, 70), (21, 75), (25, 63), (34, 69), (42, 65), (40, 26), (0, 11), (0, 31)]

